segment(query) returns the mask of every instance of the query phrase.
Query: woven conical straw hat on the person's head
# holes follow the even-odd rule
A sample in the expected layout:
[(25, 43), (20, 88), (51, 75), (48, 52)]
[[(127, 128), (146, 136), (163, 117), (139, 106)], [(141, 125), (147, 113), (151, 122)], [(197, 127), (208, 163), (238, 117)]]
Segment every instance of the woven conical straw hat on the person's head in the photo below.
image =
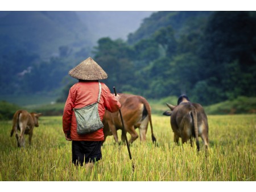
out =
[(104, 80), (108, 78), (108, 74), (91, 57), (69, 70), (68, 74), (78, 80)]

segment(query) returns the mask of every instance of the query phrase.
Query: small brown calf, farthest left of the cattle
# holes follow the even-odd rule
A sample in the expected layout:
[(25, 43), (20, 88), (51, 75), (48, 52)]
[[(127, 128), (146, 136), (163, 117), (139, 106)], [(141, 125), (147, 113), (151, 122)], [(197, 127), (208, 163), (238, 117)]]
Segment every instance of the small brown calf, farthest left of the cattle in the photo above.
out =
[[(29, 135), (29, 143), (33, 135), (34, 127), (38, 127), (38, 118), (42, 114), (36, 114), (35, 112), (27, 112), (25, 110), (18, 110), (13, 116), (13, 129), (11, 130), (11, 136), (15, 131), (15, 137), (17, 139), (18, 147), (25, 147), (24, 134)], [(18, 130), (20, 135), (18, 136)]]

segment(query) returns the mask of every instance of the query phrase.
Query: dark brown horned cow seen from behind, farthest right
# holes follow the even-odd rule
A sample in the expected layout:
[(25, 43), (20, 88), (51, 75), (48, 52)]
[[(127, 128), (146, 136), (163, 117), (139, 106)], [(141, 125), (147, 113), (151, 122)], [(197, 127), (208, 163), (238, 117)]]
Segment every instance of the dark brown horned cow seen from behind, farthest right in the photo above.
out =
[(197, 151), (200, 150), (199, 136), (203, 139), (205, 149), (208, 149), (208, 120), (204, 108), (199, 103), (191, 103), (186, 95), (181, 95), (177, 106), (166, 103), (171, 111), (166, 111), (163, 115), (171, 116), (171, 127), (174, 131), (174, 142), (182, 143), (196, 138)]

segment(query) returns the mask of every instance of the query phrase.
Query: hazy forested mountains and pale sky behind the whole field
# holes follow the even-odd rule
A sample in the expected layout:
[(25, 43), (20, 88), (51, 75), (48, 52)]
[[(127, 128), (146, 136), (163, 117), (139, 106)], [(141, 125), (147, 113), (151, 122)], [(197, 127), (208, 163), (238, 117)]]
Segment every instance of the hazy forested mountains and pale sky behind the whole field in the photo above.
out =
[(255, 11), (0, 11), (0, 42), (0, 101), (16, 105), (64, 103), (89, 56), (146, 99), (256, 95)]

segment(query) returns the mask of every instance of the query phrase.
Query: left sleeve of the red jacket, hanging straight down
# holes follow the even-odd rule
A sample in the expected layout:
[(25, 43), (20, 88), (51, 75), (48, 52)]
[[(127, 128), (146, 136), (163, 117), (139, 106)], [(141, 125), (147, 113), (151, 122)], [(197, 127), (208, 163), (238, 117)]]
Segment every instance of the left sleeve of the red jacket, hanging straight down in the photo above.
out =
[(63, 118), (62, 118), (62, 125), (63, 125), (63, 132), (70, 133), (71, 132), (71, 120), (72, 120), (72, 113), (73, 113), (73, 98), (72, 98), (72, 91), (69, 90), (68, 98), (65, 103), (64, 111), (63, 111)]

